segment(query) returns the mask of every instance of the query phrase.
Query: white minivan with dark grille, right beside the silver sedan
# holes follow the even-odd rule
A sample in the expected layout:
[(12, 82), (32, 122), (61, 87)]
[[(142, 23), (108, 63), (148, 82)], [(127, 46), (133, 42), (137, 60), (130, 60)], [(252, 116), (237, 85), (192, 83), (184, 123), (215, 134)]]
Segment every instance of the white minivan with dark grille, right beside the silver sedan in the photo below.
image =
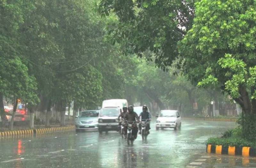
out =
[(99, 115), (99, 133), (102, 131), (119, 131), (118, 116), (122, 111), (119, 107), (101, 108)]

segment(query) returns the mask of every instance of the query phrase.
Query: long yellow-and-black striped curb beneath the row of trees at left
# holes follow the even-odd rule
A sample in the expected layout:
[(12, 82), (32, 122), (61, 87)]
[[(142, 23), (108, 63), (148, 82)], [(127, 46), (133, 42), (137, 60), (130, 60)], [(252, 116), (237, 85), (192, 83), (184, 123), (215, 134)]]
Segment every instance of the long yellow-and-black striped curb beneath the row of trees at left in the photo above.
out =
[(66, 127), (4, 131), (4, 132), (0, 132), (0, 138), (1, 137), (18, 137), (21, 135), (44, 134), (49, 132), (65, 131), (65, 130), (72, 130), (72, 129), (76, 129), (76, 126), (71, 125)]

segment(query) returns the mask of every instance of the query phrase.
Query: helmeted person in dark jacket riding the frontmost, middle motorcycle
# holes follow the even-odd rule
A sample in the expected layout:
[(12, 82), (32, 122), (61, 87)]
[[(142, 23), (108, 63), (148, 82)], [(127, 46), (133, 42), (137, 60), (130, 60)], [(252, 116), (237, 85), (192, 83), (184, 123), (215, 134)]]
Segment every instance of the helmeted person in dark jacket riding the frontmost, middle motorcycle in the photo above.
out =
[[(139, 122), (140, 121), (140, 118), (139, 116), (137, 115), (137, 113), (135, 113), (133, 111), (133, 107), (132, 106), (129, 106), (128, 107), (128, 113), (125, 113), (124, 114), (124, 119), (126, 121), (128, 121), (129, 123), (132, 123), (132, 122)], [(138, 127), (137, 127), (137, 124), (134, 125), (134, 130), (133, 130), (133, 135), (134, 135), (134, 138), (136, 139), (137, 138), (137, 134), (138, 134)], [(127, 132), (127, 126), (124, 127), (124, 131)]]

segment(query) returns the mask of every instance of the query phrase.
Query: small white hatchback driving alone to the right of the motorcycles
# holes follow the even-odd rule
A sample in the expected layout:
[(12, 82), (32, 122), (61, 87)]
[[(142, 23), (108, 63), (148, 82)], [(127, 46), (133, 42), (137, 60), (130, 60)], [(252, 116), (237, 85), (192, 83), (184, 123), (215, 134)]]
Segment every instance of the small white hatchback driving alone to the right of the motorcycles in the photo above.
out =
[(159, 128), (181, 128), (181, 118), (177, 110), (161, 110), (156, 116), (156, 130)]

